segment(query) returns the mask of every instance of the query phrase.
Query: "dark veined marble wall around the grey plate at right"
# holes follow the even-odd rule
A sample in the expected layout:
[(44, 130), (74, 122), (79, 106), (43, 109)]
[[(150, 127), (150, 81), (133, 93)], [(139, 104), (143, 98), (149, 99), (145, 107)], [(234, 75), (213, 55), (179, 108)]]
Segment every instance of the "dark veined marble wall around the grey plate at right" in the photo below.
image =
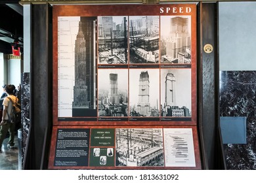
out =
[(247, 144), (223, 144), (227, 169), (256, 169), (256, 71), (220, 72), (220, 115), (247, 118)]

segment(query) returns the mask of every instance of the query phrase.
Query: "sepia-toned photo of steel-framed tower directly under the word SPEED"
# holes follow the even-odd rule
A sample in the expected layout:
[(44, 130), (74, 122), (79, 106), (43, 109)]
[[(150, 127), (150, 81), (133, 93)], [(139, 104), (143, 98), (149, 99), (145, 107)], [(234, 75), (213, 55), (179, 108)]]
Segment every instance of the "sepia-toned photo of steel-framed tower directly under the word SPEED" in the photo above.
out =
[(191, 64), (191, 17), (161, 16), (161, 63)]

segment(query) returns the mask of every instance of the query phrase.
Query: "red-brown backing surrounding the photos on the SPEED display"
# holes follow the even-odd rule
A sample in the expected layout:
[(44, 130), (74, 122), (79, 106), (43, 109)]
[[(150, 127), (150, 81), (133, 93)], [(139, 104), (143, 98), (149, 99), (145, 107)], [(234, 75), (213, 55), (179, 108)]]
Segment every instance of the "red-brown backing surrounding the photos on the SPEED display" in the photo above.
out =
[[(160, 13), (160, 8), (191, 8), (191, 12)], [(113, 121), (74, 121), (64, 122), (58, 120), (58, 16), (191, 16), (191, 81), (192, 81), (192, 120), (183, 121), (148, 121), (148, 122), (113, 122)], [(200, 145), (197, 130), (197, 39), (196, 39), (196, 4), (171, 4), (171, 5), (54, 5), (53, 6), (53, 133), (51, 141), (51, 152), (49, 156), (49, 169), (116, 169), (116, 167), (54, 167), (54, 156), (56, 146), (56, 133), (58, 128), (192, 128), (194, 140), (194, 152), (196, 167), (150, 167), (150, 169), (201, 169)], [(118, 167), (118, 169), (148, 169), (149, 167)]]

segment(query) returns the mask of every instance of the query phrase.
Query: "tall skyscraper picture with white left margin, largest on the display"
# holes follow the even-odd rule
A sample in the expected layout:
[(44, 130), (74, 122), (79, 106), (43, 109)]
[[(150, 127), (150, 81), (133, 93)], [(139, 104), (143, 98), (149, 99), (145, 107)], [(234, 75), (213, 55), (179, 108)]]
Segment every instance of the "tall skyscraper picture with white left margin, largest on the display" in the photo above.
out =
[(96, 16), (59, 17), (58, 40), (58, 117), (96, 117)]

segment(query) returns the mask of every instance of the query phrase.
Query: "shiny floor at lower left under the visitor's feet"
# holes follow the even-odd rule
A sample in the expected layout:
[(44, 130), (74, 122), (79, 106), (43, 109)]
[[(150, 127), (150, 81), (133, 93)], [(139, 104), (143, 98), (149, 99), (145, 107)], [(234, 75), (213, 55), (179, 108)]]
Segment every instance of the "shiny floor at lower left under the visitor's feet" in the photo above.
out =
[(14, 148), (7, 148), (9, 137), (3, 141), (2, 152), (0, 152), (0, 170), (18, 170), (19, 163), (19, 143), (18, 137), (15, 135)]

